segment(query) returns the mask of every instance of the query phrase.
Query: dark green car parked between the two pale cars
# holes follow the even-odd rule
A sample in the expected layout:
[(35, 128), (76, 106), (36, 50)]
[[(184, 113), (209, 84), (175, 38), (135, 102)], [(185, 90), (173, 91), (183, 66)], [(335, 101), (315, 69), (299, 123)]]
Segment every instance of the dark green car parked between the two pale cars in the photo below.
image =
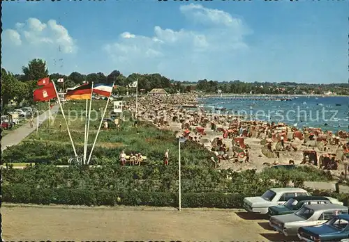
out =
[(340, 204), (343, 205), (343, 202), (339, 202), (336, 198), (332, 197), (321, 197), (321, 196), (304, 196), (304, 197), (294, 197), (288, 200), (285, 204), (281, 206), (272, 206), (269, 207), (268, 214), (269, 216), (282, 215), (295, 213), (302, 208), (304, 204)]

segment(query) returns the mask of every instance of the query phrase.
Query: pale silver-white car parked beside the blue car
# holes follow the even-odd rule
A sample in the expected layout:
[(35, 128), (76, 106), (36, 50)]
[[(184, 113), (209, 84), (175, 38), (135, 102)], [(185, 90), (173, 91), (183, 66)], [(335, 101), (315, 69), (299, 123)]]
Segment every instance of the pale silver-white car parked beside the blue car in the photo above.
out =
[(297, 235), (299, 227), (322, 225), (334, 216), (348, 213), (348, 207), (339, 204), (304, 205), (295, 213), (272, 216), (269, 225), (285, 235)]

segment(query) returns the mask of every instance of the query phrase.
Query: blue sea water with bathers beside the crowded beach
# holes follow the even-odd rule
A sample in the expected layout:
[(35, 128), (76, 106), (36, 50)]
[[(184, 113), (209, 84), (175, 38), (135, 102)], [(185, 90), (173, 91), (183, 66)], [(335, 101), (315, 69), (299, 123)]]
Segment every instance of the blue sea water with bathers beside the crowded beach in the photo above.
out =
[[(284, 122), (299, 129), (319, 127), (322, 130), (348, 131), (349, 97), (291, 97), (291, 101), (276, 101), (267, 96), (205, 97), (199, 102), (206, 111), (244, 115), (247, 120)], [(239, 100), (237, 98), (246, 98)], [(262, 100), (253, 100), (265, 98)], [(237, 99), (237, 100), (235, 100)], [(220, 111), (218, 108), (226, 108)]]

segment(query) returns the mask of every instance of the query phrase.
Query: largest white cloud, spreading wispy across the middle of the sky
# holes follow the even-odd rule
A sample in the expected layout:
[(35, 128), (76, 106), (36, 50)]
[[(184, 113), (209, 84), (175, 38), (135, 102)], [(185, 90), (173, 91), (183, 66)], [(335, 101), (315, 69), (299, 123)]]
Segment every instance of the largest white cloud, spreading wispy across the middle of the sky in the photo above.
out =
[(154, 33), (149, 36), (121, 33), (117, 42), (104, 47), (113, 64), (125, 72), (162, 72), (177, 76), (172, 72), (190, 67), (189, 72), (203, 73), (209, 69), (207, 65), (217, 68), (222, 56), (228, 60), (248, 50), (244, 36), (249, 30), (242, 19), (193, 3), (181, 6), (179, 12), (191, 23), (198, 24), (198, 28), (174, 30), (154, 26)]

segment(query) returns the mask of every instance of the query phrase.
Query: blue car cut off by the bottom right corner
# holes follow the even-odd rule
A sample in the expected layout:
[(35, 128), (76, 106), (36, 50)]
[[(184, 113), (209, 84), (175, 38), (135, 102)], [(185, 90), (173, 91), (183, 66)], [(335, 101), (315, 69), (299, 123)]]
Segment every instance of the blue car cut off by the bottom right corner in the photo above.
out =
[[(325, 216), (325, 214), (324, 214)], [(318, 226), (300, 227), (298, 237), (302, 241), (341, 241), (349, 238), (349, 214), (340, 214)]]

